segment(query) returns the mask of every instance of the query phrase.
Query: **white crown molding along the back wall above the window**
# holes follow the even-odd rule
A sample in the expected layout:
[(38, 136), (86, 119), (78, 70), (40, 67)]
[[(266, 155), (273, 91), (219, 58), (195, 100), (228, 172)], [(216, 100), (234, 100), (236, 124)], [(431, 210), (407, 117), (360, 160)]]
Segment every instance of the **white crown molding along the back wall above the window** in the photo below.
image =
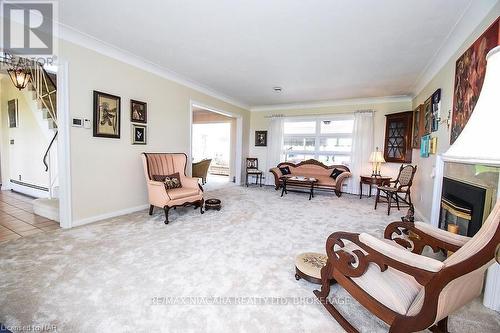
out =
[(281, 111), (281, 110), (296, 110), (296, 109), (315, 109), (339, 105), (363, 105), (363, 104), (383, 104), (383, 103), (401, 103), (412, 101), (412, 96), (384, 96), (384, 97), (368, 97), (368, 98), (350, 98), (350, 99), (337, 99), (322, 102), (311, 103), (291, 103), (291, 104), (273, 104), (261, 105), (250, 108), (252, 112), (264, 111)]

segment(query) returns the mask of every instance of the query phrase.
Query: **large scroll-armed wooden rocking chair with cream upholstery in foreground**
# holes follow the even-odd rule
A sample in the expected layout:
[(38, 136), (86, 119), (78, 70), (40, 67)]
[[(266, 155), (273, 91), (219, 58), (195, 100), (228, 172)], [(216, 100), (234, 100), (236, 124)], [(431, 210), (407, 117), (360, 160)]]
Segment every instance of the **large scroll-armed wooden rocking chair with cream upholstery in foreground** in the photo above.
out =
[[(332, 282), (387, 323), (389, 332), (448, 332), (448, 316), (481, 294), (500, 242), (499, 225), (500, 201), (472, 238), (422, 222), (391, 223), (384, 240), (333, 233), (326, 242), (321, 291), (314, 294), (347, 332), (358, 331), (329, 301)], [(454, 253), (441, 262), (421, 255), (425, 245)]]

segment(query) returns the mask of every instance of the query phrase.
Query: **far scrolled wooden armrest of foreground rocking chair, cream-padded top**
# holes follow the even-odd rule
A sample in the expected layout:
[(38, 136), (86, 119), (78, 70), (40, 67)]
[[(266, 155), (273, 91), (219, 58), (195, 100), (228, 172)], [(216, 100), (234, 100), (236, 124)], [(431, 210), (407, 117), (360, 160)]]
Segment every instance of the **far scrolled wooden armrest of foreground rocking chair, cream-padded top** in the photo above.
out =
[(454, 234), (451, 236), (447, 231), (440, 231), (436, 232), (436, 228), (422, 222), (393, 222), (385, 228), (384, 238), (395, 241), (417, 254), (421, 254), (426, 245), (434, 252), (456, 252), (470, 239)]

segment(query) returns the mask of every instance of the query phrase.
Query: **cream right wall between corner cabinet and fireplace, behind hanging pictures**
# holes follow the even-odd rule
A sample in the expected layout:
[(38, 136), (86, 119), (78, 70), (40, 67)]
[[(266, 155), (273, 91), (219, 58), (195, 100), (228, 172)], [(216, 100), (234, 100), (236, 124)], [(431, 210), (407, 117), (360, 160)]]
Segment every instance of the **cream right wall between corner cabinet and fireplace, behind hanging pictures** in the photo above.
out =
[[(434, 91), (441, 88), (441, 116), (446, 118), (448, 111), (453, 108), (453, 88), (455, 82), (455, 64), (457, 59), (472, 45), (472, 43), (495, 21), (500, 15), (500, 3), (490, 11), (479, 26), (471, 32), (467, 40), (460, 46), (457, 52), (448, 60), (443, 68), (413, 99), (413, 108), (422, 104)], [(450, 130), (446, 125), (439, 125), (439, 130), (432, 133), (438, 138), (437, 153), (442, 154), (450, 147)], [(433, 171), (436, 163), (436, 155), (421, 158), (418, 150), (413, 150), (413, 160), (418, 164), (415, 175), (413, 193), (415, 209), (426, 220), (430, 220), (432, 208), (432, 188), (434, 184)]]

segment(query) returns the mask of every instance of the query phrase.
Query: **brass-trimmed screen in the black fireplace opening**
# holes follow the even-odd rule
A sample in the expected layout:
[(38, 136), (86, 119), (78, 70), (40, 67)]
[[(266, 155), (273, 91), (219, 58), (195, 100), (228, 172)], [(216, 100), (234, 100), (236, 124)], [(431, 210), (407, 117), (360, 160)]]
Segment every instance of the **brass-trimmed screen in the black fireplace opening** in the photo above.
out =
[(458, 228), (458, 234), (468, 236), (471, 219), (471, 207), (447, 198), (441, 199), (441, 220), (439, 221), (441, 229), (452, 231)]

